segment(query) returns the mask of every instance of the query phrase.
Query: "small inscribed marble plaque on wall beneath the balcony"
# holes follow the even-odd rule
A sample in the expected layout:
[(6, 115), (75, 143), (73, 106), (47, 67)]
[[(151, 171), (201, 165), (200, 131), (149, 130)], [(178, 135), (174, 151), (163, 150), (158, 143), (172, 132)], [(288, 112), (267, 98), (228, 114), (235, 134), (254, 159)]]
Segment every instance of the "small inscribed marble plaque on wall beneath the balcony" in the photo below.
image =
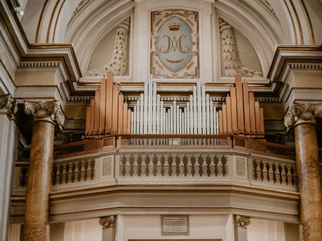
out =
[(189, 234), (189, 216), (161, 216), (162, 235)]

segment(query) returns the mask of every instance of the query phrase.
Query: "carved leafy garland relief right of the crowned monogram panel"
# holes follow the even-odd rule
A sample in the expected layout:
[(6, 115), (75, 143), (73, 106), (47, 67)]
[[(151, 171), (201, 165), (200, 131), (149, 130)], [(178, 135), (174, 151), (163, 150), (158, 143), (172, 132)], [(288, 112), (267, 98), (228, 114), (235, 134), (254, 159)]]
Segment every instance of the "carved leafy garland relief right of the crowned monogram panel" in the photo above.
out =
[(219, 28), (222, 38), (223, 68), (226, 75), (229, 77), (237, 74), (247, 77), (263, 77), (262, 72), (246, 68), (239, 62), (232, 27), (222, 19), (219, 19)]

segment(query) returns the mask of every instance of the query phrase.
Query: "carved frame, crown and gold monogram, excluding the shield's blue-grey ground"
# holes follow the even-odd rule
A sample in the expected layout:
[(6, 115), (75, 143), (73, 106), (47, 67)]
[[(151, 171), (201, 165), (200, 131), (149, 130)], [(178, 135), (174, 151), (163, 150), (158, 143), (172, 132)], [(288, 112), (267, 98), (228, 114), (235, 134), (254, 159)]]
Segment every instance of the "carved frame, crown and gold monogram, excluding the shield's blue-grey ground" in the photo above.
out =
[[(180, 21), (185, 23), (188, 29), (191, 31), (191, 36), (185, 34), (180, 37), (174, 36), (172, 39), (168, 35), (158, 36), (158, 31), (162, 28), (163, 24), (171, 18), (178, 18)], [(156, 78), (198, 78), (199, 77), (199, 32), (198, 32), (198, 13), (186, 10), (162, 10), (151, 13), (151, 74)], [(181, 25), (180, 23), (169, 23), (167, 25), (169, 31), (179, 32)], [(163, 61), (160, 59), (158, 54), (163, 53), (162, 48), (158, 49), (157, 43), (159, 38), (168, 38), (168, 47), (164, 47), (165, 53), (178, 50), (180, 53), (190, 53), (190, 60), (179, 70), (169, 69)], [(177, 37), (177, 38), (176, 38)], [(181, 39), (191, 38), (191, 48), (181, 46)], [(182, 49), (184, 48), (184, 49)], [(188, 51), (188, 52), (186, 52)], [(163, 53), (164, 54), (164, 53)], [(167, 60), (169, 63), (178, 64), (180, 60)]]

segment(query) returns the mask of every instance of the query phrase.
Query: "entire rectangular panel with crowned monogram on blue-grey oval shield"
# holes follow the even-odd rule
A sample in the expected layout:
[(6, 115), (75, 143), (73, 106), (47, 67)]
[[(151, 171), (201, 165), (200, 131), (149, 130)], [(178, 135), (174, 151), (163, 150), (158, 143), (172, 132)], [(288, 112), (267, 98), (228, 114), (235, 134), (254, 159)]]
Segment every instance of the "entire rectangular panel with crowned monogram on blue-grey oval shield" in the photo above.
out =
[(155, 78), (198, 78), (198, 13), (151, 13), (151, 74)]

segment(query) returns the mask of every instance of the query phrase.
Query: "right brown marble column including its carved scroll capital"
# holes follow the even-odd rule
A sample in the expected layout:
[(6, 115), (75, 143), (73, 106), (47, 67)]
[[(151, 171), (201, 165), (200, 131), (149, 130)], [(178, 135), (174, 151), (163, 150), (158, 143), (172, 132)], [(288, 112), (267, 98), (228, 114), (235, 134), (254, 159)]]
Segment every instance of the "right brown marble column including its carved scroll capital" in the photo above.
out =
[(284, 116), (285, 126), (294, 127), (295, 133), (301, 241), (322, 240), (322, 189), (315, 124), (315, 117), (321, 116), (322, 104), (296, 102)]

